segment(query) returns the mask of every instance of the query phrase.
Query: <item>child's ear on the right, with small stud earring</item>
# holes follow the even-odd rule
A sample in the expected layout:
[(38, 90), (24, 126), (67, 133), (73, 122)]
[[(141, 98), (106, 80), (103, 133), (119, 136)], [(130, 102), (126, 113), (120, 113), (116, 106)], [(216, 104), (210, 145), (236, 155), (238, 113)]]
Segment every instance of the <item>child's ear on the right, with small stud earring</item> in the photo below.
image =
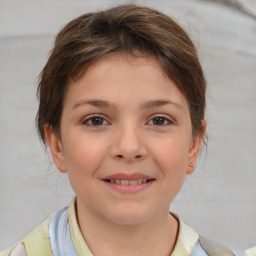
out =
[(206, 121), (202, 120), (202, 129), (199, 132), (199, 134), (197, 134), (193, 138), (191, 148), (189, 150), (188, 164), (187, 164), (187, 171), (186, 171), (187, 174), (191, 174), (195, 170), (196, 161), (200, 152), (202, 141), (204, 139), (205, 131), (206, 131)]

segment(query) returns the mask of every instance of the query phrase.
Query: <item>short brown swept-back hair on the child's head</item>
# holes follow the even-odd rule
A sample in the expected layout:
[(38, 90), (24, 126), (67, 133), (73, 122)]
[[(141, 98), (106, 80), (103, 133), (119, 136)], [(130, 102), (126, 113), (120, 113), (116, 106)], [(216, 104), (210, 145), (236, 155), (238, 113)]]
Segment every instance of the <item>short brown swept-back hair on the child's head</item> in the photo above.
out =
[(196, 49), (187, 33), (170, 17), (156, 10), (121, 5), (84, 14), (57, 35), (40, 74), (38, 133), (45, 143), (44, 125), (58, 134), (68, 84), (79, 79), (85, 65), (113, 53), (154, 55), (163, 71), (185, 96), (193, 134), (202, 129), (206, 81)]

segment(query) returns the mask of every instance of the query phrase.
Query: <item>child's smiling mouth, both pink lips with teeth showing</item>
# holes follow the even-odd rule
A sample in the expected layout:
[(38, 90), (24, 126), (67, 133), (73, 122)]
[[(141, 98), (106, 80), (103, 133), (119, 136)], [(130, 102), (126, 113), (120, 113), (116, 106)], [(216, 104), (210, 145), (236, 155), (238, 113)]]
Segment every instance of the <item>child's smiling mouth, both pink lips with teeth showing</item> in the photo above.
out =
[(149, 187), (155, 179), (143, 174), (114, 174), (107, 176), (103, 181), (112, 189), (122, 193), (136, 193)]

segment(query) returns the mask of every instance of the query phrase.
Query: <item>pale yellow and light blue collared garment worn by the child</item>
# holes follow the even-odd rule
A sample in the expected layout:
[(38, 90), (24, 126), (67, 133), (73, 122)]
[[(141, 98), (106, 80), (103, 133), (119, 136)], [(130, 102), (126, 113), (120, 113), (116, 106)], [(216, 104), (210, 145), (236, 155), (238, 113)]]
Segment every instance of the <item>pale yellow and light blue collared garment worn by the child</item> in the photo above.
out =
[[(231, 251), (199, 235), (178, 216), (179, 234), (171, 256), (229, 256)], [(76, 218), (75, 200), (0, 256), (93, 256)]]

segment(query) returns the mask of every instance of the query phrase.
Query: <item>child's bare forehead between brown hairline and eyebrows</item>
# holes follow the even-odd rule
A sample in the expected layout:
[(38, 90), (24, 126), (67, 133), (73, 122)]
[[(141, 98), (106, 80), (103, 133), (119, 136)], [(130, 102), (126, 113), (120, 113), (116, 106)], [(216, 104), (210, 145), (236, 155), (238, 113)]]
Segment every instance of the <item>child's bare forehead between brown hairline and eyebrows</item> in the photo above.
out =
[(150, 101), (163, 97), (184, 100), (156, 57), (122, 54), (100, 58), (85, 67), (78, 80), (70, 83), (66, 100), (79, 101), (85, 97), (100, 97), (109, 102), (127, 99)]

